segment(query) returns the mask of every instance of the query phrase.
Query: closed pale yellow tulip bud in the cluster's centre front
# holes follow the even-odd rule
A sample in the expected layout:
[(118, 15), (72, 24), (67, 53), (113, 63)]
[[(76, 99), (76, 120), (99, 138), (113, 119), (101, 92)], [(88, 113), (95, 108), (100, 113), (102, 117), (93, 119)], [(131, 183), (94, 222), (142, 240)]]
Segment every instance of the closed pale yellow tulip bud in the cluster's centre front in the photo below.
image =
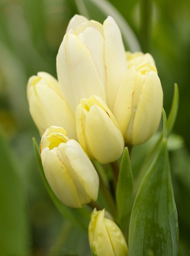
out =
[(80, 100), (75, 118), (78, 141), (91, 159), (105, 164), (121, 156), (124, 139), (114, 115), (102, 99), (92, 95)]

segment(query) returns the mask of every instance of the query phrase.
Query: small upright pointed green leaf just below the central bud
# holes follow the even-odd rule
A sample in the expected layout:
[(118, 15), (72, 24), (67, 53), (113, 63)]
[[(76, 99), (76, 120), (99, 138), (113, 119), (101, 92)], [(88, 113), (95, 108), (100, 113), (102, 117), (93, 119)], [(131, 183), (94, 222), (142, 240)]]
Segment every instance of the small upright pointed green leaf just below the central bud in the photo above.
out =
[(121, 160), (118, 184), (116, 189), (116, 202), (118, 207), (119, 223), (122, 231), (125, 231), (130, 219), (133, 202), (133, 175), (129, 158), (129, 150), (126, 147)]

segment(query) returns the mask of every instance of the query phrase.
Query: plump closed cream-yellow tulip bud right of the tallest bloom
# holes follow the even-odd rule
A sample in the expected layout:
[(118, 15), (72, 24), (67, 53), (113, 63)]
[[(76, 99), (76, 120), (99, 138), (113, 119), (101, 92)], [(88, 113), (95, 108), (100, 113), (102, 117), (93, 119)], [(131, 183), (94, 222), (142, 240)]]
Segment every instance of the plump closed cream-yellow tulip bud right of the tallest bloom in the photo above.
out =
[(120, 85), (114, 106), (124, 139), (130, 144), (147, 141), (161, 118), (163, 92), (155, 66), (145, 62), (132, 66)]

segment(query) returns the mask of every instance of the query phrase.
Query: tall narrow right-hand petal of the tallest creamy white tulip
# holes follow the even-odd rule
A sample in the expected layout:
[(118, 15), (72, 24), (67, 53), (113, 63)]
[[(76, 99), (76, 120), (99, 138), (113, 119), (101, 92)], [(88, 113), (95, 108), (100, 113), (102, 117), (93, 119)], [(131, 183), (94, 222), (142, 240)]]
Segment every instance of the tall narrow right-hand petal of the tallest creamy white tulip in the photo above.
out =
[(108, 107), (113, 111), (119, 85), (127, 71), (127, 61), (121, 32), (115, 20), (109, 16), (103, 28)]

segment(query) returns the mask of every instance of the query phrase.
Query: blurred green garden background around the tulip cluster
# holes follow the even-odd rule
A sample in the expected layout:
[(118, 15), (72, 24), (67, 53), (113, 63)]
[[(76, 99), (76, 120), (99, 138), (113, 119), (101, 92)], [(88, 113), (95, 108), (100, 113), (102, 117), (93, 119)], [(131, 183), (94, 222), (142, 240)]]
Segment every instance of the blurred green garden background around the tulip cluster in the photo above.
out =
[(179, 86), (174, 132), (184, 143), (170, 148), (170, 160), (179, 256), (190, 255), (189, 0), (0, 0), (0, 255), (90, 255), (87, 236), (62, 218), (45, 190), (32, 145), (40, 136), (26, 98), (30, 76), (56, 77), (58, 47), (76, 13), (100, 22), (110, 14), (126, 50), (153, 55), (167, 114)]

